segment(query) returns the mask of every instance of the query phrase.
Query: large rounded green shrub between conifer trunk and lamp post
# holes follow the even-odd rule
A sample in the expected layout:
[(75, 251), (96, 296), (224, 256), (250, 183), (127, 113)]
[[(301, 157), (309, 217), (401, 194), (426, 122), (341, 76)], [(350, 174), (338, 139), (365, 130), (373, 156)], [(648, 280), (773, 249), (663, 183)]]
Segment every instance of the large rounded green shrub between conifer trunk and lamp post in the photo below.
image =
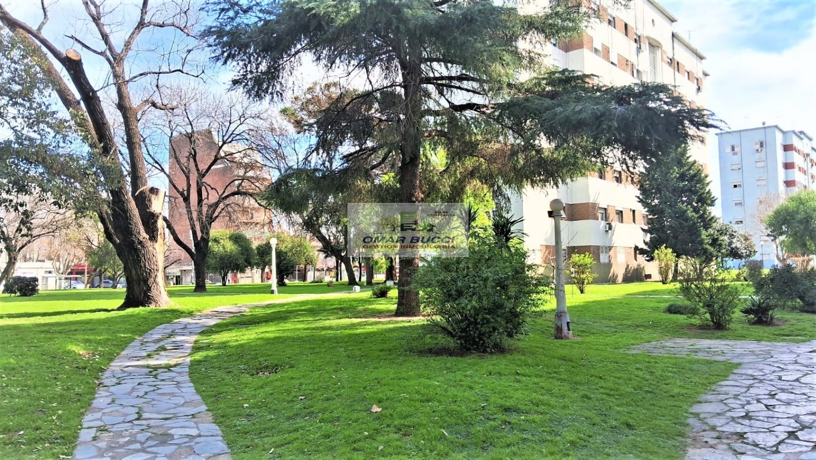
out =
[(437, 257), (419, 268), (413, 289), (422, 290), (432, 332), (466, 352), (499, 352), (526, 333), (527, 320), (543, 302), (548, 279), (527, 265), (526, 251), (503, 241), (471, 240), (468, 257)]

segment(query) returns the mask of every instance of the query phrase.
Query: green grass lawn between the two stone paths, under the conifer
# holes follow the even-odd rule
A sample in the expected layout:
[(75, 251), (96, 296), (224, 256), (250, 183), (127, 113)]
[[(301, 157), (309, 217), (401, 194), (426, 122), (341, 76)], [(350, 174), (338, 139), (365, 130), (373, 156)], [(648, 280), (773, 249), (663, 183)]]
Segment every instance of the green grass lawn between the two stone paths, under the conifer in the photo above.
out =
[(379, 321), (393, 301), (366, 294), (255, 307), (202, 334), (193, 382), (234, 458), (682, 458), (688, 409), (737, 365), (625, 349), (816, 338), (816, 316), (804, 313), (715, 332), (663, 313), (672, 299), (598, 297), (650, 289), (667, 288), (570, 296), (578, 340), (552, 340), (548, 310), (497, 356), (419, 353), (430, 344), (421, 321)]

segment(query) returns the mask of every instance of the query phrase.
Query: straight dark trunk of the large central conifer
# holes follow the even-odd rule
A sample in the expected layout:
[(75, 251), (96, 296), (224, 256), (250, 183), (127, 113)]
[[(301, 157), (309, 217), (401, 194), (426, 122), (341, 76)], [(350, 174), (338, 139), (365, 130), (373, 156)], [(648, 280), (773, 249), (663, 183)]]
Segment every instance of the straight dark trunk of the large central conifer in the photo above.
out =
[[(419, 187), (419, 167), (422, 161), (422, 92), (419, 81), (422, 69), (417, 57), (421, 54), (409, 45), (409, 55), (402, 63), (402, 82), (405, 93), (405, 120), (401, 132), (400, 199), (403, 203), (422, 202)], [(411, 290), (419, 258), (400, 257), (400, 281), (397, 290), (395, 316), (419, 316), (419, 292)]]

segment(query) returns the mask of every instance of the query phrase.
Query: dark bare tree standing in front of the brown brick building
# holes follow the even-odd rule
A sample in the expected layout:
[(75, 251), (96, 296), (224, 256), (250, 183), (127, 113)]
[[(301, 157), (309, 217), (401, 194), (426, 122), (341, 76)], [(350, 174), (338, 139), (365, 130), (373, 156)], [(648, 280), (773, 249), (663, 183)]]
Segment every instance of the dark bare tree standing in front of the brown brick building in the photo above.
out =
[(193, 291), (206, 292), (205, 262), (215, 226), (258, 236), (272, 231), (271, 215), (254, 198), (271, 183), (256, 148), (268, 132), (268, 113), (234, 95), (207, 95), (200, 87), (172, 92), (180, 107), (153, 117), (145, 153), (149, 166), (167, 179), (164, 221), (193, 262)]

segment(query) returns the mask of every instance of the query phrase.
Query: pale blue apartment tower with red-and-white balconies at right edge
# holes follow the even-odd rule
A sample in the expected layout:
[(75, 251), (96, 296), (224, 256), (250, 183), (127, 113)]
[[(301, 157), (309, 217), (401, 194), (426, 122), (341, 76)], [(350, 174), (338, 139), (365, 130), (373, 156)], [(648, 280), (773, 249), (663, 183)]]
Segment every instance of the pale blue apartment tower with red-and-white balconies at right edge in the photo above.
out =
[(762, 220), (786, 197), (816, 184), (816, 148), (805, 131), (759, 126), (717, 133), (722, 219), (754, 238), (765, 268), (781, 261)]

